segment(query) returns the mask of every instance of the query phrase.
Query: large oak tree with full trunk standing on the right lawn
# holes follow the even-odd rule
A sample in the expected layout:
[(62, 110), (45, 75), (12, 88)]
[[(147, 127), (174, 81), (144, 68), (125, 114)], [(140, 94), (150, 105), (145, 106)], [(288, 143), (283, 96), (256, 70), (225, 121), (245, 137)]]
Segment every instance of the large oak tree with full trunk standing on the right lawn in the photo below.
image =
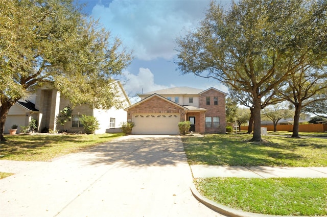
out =
[[(182, 74), (214, 78), (247, 92), (253, 137), (261, 140), (262, 100), (327, 47), (326, 1), (240, 0), (230, 10), (212, 2), (200, 27), (177, 39)], [(307, 31), (303, 31), (307, 30)], [(313, 34), (314, 33), (314, 34)], [(320, 52), (321, 51), (321, 52)], [(316, 55), (312, 58), (310, 53)]]

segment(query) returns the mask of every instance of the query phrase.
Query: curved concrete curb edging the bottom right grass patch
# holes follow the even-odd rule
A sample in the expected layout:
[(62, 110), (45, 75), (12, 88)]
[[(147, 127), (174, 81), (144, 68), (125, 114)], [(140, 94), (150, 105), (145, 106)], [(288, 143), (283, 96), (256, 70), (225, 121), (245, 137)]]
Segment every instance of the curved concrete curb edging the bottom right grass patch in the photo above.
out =
[[(212, 200), (204, 198), (199, 193), (199, 191), (196, 189), (196, 187), (194, 185), (191, 185), (190, 189), (192, 191), (192, 195), (203, 205), (207, 206), (208, 208), (211, 208), (212, 210), (214, 210), (216, 212), (219, 212), (223, 215), (227, 215), (230, 217), (253, 217), (253, 216), (256, 216), (256, 217), (281, 217), (281, 216), (294, 217), (294, 215), (267, 215), (267, 214), (258, 214), (258, 213), (252, 213), (252, 212), (244, 212), (242, 210), (229, 208), (227, 206), (218, 204)], [(297, 215), (296, 217), (309, 217), (309, 216)], [(321, 216), (321, 217), (324, 217), (324, 216)]]

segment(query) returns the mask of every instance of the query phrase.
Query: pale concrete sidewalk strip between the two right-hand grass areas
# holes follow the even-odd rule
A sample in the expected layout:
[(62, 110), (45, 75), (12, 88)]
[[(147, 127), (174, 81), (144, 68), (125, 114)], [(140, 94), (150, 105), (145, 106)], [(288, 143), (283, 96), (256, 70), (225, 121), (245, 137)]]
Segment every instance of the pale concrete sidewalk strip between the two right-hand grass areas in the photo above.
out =
[(191, 165), (194, 178), (327, 178), (327, 167), (271, 167), (271, 166), (212, 166)]

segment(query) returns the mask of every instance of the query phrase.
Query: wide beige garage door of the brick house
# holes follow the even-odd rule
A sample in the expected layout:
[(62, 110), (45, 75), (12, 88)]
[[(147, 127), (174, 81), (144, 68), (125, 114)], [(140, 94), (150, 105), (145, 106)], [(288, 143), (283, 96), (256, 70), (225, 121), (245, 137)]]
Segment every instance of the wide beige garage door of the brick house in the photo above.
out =
[(179, 113), (134, 114), (132, 134), (179, 134)]

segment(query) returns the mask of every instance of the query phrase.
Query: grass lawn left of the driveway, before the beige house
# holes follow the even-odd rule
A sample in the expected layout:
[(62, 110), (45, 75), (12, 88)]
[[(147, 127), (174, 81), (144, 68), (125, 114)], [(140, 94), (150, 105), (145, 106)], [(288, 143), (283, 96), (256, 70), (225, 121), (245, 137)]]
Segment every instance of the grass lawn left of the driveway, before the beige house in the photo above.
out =
[(49, 161), (123, 134), (37, 134), (6, 136), (0, 146), (2, 160)]

